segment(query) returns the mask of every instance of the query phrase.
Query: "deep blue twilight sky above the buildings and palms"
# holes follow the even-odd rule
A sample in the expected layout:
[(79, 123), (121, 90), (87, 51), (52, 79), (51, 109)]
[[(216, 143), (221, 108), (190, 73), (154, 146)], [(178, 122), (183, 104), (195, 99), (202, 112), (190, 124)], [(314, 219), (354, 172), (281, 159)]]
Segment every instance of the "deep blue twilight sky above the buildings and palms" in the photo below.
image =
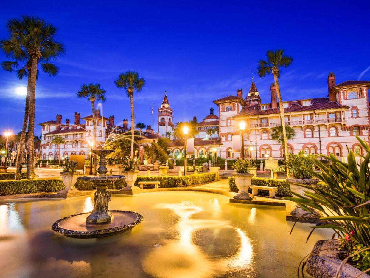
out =
[[(83, 83), (107, 90), (103, 114), (115, 123), (130, 119), (129, 98), (114, 85), (118, 74), (135, 70), (146, 79), (135, 94), (135, 122), (149, 125), (154, 103), (167, 96), (174, 122), (209, 114), (213, 100), (248, 93), (257, 62), (266, 50), (283, 48), (293, 57), (283, 70), (283, 100), (326, 97), (326, 77), (336, 82), (370, 80), (370, 1), (6, 1), (0, 9), (0, 38), (6, 22), (21, 14), (42, 17), (58, 28), (67, 53), (56, 77), (41, 74), (36, 85), (36, 123), (91, 115), (77, 99)], [(6, 60), (1, 53), (0, 60)], [(270, 102), (272, 76), (256, 77), (262, 102)], [(26, 80), (0, 71), (0, 132), (18, 132)], [(217, 109), (215, 109), (215, 112)], [(35, 133), (41, 132), (36, 126)]]

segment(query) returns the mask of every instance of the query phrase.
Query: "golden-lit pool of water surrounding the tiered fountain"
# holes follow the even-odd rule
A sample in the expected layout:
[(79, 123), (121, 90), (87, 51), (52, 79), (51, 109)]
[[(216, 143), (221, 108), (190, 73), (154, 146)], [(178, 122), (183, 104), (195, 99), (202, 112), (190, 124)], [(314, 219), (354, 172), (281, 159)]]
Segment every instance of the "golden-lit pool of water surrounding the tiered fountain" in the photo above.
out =
[(96, 239), (54, 234), (62, 217), (89, 212), (92, 196), (0, 202), (1, 277), (296, 277), (300, 260), (331, 231), (285, 221), (285, 208), (230, 204), (202, 192), (112, 195), (110, 209), (144, 220)]

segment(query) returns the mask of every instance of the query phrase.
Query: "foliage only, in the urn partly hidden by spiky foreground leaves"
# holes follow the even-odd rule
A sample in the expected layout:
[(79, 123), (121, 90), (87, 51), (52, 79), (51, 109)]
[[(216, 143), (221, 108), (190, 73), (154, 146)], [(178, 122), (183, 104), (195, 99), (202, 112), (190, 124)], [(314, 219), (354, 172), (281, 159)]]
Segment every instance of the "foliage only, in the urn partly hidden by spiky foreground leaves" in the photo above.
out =
[(293, 153), (287, 153), (286, 155), (288, 159), (284, 161), (284, 164), (289, 168), (290, 176), (293, 179), (311, 179), (313, 177), (312, 170), (315, 168), (315, 165), (312, 161), (316, 161), (318, 155), (307, 154), (303, 150), (300, 150), (296, 155)]

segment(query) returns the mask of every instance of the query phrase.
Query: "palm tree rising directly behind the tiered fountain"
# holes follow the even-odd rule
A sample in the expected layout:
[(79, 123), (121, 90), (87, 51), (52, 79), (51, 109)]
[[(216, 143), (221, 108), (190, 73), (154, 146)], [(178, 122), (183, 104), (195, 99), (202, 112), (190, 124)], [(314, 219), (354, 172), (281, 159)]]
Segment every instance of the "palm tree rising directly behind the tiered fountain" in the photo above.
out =
[[(77, 92), (77, 97), (78, 98), (85, 98), (88, 99), (88, 101), (91, 102), (91, 110), (92, 110), (92, 119), (93, 119), (93, 127), (92, 127), (92, 132), (93, 135), (92, 137), (94, 138), (94, 145), (93, 148), (96, 148), (96, 141), (97, 141), (97, 136), (96, 136), (96, 115), (95, 115), (95, 101), (100, 101), (100, 102), (105, 102), (105, 91), (100, 87), (99, 83), (90, 83), (90, 84), (83, 84), (81, 86), (81, 89)], [(59, 154), (60, 157), (60, 154)], [(96, 169), (96, 159), (94, 160), (94, 169)], [(95, 171), (95, 170), (94, 170)]]

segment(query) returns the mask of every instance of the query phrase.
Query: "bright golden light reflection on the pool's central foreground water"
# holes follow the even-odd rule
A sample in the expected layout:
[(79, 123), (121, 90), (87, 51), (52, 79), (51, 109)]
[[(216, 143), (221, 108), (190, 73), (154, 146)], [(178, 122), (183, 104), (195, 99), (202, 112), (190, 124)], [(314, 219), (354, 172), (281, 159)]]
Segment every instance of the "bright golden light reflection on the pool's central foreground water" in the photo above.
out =
[[(233, 228), (230, 221), (191, 219), (192, 215), (202, 212), (203, 207), (189, 201), (176, 204), (162, 203), (155, 208), (171, 209), (179, 217), (174, 227), (178, 239), (163, 244), (147, 254), (143, 268), (149, 274), (155, 277), (214, 277), (230, 269), (235, 271), (251, 266), (253, 246), (245, 232)], [(211, 203), (211, 208), (215, 208), (214, 212), (218, 214), (221, 209), (218, 200)], [(193, 236), (195, 231), (202, 229), (213, 229), (213, 233), (218, 234), (221, 228), (233, 229), (239, 237), (240, 245), (235, 255), (229, 255), (225, 259), (214, 259), (194, 244)]]

